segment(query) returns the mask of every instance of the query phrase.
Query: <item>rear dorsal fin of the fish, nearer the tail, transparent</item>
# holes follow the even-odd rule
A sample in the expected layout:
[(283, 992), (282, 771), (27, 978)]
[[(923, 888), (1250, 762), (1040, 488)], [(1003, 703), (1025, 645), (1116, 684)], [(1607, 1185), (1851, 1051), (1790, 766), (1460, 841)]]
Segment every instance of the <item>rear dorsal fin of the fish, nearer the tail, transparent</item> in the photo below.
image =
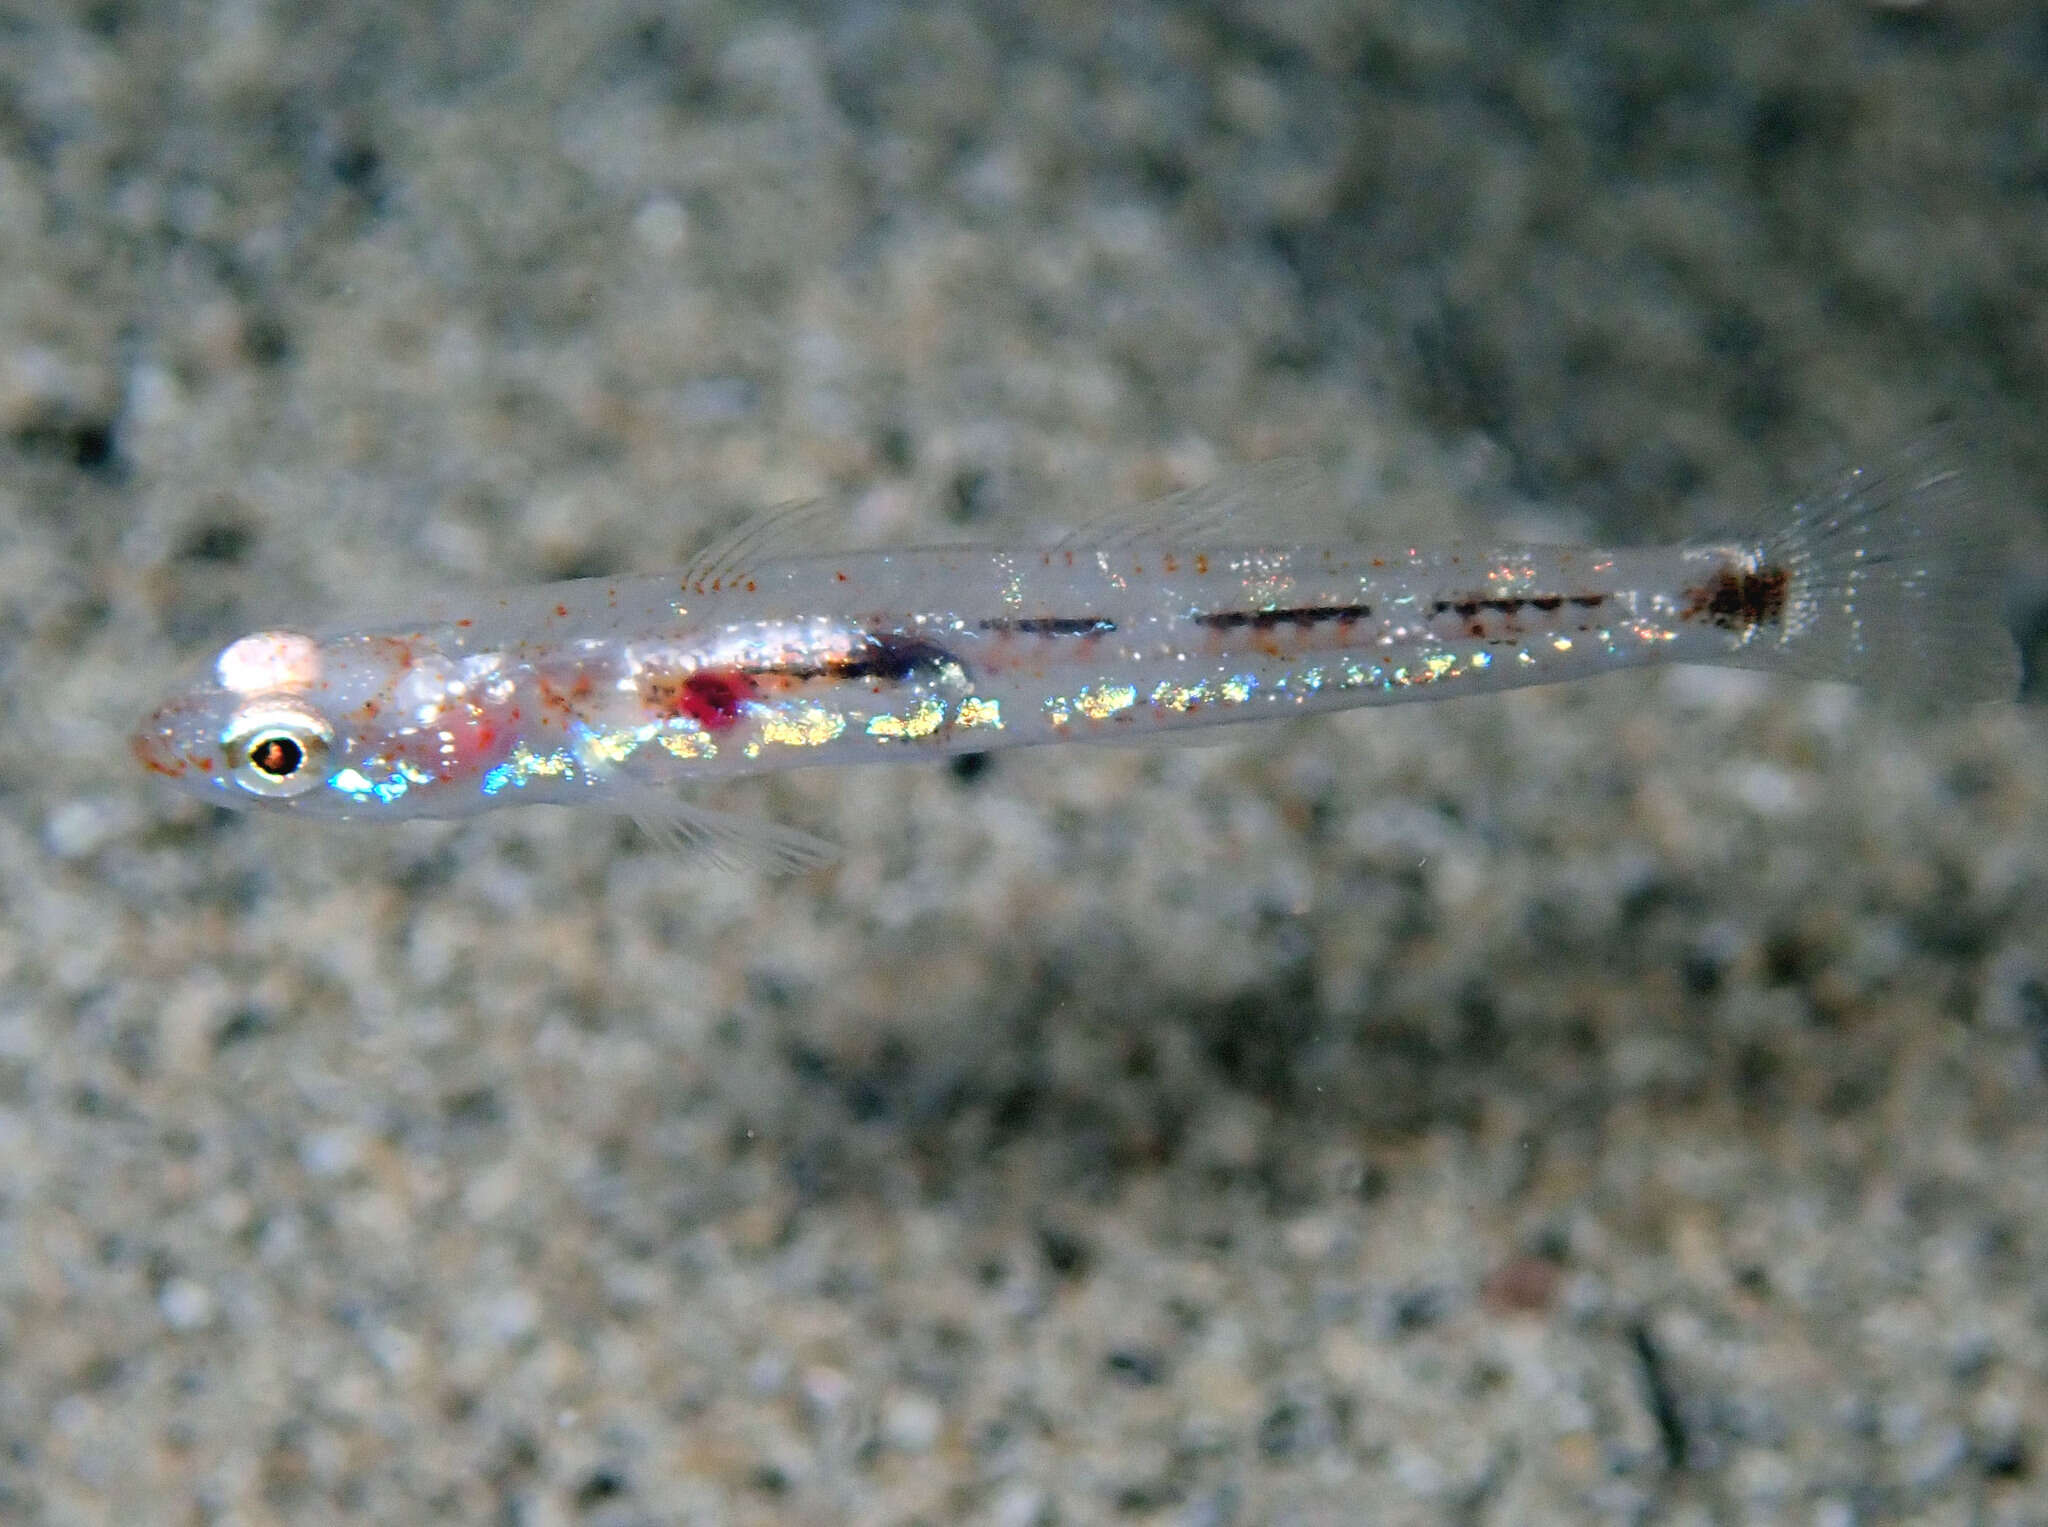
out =
[(1307, 456), (1231, 467), (1200, 487), (1133, 504), (1063, 538), (1063, 551), (1282, 547), (1348, 540), (1329, 479)]

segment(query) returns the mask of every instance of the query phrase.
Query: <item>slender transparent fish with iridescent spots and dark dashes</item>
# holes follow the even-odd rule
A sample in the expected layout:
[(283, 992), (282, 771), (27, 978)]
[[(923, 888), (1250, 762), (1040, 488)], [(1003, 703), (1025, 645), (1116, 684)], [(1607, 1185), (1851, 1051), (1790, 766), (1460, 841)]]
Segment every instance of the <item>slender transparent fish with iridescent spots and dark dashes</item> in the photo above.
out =
[(829, 845), (692, 806), (692, 780), (918, 761), (1446, 700), (1653, 663), (2009, 698), (2017, 655), (1964, 477), (1917, 448), (1751, 536), (1362, 547), (1268, 465), (1053, 547), (819, 551), (829, 510), (674, 575), (446, 602), (221, 651), (135, 735), (229, 806), (375, 821), (580, 804), (737, 864)]

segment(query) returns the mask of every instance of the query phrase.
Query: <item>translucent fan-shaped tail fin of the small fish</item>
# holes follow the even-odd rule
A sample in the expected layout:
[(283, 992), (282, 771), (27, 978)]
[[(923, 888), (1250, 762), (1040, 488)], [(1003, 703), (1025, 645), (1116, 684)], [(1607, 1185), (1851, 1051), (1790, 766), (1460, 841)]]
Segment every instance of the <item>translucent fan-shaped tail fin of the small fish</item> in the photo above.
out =
[(1729, 655), (1739, 667), (1919, 704), (2011, 700), (2019, 688), (1999, 542), (1946, 438), (1843, 473), (1755, 559), (1782, 604)]

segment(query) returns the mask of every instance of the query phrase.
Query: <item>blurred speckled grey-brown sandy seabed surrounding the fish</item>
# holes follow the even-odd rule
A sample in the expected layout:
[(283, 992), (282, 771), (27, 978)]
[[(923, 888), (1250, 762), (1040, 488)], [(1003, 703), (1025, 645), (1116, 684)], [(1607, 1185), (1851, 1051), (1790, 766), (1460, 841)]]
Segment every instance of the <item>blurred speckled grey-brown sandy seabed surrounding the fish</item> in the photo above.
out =
[(1956, 413), (2044, 647), (2044, 80), (1999, 0), (0, 0), (0, 1517), (2048, 1521), (2028, 704), (711, 792), (784, 880), (125, 743), (793, 497), (1657, 540)]

